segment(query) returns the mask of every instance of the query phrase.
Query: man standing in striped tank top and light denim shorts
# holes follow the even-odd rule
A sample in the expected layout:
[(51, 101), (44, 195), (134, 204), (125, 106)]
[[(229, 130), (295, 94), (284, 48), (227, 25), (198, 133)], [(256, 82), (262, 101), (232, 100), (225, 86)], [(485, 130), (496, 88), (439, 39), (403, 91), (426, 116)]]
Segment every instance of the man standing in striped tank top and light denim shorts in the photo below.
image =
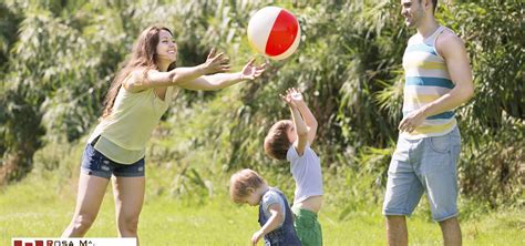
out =
[(388, 242), (408, 245), (405, 216), (426, 193), (444, 245), (461, 245), (456, 218), (461, 136), (453, 110), (474, 94), (469, 58), (462, 40), (436, 22), (437, 0), (401, 0), (401, 4), (405, 24), (418, 33), (409, 39), (403, 55), (403, 120), (383, 204)]

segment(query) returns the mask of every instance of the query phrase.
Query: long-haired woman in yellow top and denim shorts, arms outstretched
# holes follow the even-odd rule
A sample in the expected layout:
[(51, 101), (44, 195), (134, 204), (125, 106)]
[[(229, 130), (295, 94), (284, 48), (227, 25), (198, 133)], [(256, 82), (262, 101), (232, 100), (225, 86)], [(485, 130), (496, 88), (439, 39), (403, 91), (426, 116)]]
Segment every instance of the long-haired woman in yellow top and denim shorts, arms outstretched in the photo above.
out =
[(177, 45), (167, 28), (150, 27), (142, 32), (131, 59), (114, 79), (101, 122), (89, 139), (75, 212), (62, 237), (85, 235), (112, 175), (119, 236), (137, 237), (145, 191), (145, 144), (171, 99), (179, 88), (218, 90), (254, 80), (265, 71), (265, 64), (256, 66), (251, 60), (240, 72), (223, 73), (229, 70), (228, 58), (214, 50), (196, 66), (174, 69), (176, 59)]

